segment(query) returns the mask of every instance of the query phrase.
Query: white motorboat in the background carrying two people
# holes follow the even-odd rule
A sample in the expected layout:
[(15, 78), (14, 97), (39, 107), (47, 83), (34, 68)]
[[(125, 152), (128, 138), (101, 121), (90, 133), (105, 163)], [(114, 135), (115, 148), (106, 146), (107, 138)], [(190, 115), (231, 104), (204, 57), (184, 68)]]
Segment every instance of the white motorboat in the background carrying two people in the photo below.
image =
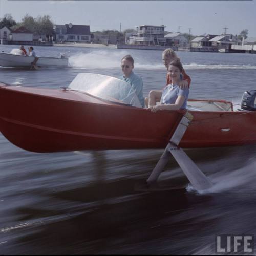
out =
[[(31, 67), (34, 57), (25, 56), (19, 49), (13, 49), (10, 53), (0, 52), (0, 66), (3, 67)], [(36, 66), (38, 67), (65, 67), (69, 64), (69, 59), (65, 55), (60, 58), (38, 57)]]

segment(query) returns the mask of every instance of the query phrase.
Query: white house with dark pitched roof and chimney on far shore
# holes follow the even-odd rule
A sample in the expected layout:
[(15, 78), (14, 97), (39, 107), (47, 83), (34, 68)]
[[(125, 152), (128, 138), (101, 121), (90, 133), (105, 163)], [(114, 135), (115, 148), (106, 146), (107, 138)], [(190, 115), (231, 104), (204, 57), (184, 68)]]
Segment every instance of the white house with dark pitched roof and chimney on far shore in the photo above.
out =
[(91, 42), (91, 32), (89, 25), (54, 25), (56, 42)]

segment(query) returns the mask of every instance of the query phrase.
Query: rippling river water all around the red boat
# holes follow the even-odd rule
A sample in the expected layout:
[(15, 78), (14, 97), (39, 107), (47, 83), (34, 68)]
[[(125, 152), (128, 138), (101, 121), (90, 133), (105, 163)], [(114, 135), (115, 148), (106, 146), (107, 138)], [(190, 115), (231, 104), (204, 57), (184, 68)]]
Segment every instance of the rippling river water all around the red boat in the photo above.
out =
[[(9, 52), (18, 46), (1, 45)], [(118, 77), (131, 54), (144, 95), (162, 89), (161, 51), (35, 47), (39, 56), (70, 55), (70, 67), (0, 67), (0, 81), (29, 87), (68, 86), (81, 72)], [(191, 77), (189, 98), (226, 99), (239, 108), (256, 89), (256, 55), (177, 52)], [(31, 106), (33, 108), (33, 106)], [(243, 131), (241, 131), (243, 132)], [(216, 254), (219, 234), (256, 232), (256, 146), (204, 148), (186, 153), (214, 183), (196, 193), (174, 159), (164, 186), (137, 190), (162, 150), (24, 151), (0, 134), (0, 254)]]

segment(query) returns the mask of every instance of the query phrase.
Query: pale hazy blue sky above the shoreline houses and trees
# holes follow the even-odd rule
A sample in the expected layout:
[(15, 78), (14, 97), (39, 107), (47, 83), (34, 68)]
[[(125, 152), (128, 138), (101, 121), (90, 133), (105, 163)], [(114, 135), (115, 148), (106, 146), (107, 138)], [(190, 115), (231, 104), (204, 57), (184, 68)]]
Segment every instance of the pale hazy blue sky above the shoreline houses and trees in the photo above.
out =
[(91, 32), (136, 29), (139, 25), (164, 25), (169, 32), (240, 34), (256, 37), (256, 0), (88, 1), (0, 0), (0, 18), (10, 13), (16, 22), (29, 14), (50, 15), (55, 24), (90, 25)]

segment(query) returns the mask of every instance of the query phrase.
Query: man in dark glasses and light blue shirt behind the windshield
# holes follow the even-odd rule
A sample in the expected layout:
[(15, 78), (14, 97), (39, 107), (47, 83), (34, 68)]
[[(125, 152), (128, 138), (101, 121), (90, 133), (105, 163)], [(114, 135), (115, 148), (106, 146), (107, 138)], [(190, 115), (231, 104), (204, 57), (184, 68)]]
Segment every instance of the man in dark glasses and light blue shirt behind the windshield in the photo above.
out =
[(121, 59), (121, 68), (123, 75), (119, 79), (129, 83), (133, 90), (135, 91), (141, 106), (144, 107), (144, 97), (143, 97), (143, 81), (142, 78), (133, 72), (134, 59), (131, 55), (126, 55)]

